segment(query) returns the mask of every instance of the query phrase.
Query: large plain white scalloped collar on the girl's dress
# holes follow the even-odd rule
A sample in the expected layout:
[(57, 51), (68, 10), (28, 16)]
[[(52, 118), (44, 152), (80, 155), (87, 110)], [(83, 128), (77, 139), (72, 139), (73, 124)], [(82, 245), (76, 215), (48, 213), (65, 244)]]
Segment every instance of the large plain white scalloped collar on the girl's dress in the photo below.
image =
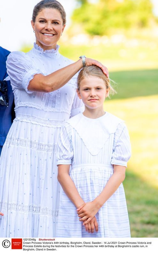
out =
[(122, 119), (108, 112), (96, 119), (88, 118), (81, 113), (67, 121), (93, 156), (98, 155), (110, 134), (115, 133), (117, 125), (122, 122), (124, 122)]

